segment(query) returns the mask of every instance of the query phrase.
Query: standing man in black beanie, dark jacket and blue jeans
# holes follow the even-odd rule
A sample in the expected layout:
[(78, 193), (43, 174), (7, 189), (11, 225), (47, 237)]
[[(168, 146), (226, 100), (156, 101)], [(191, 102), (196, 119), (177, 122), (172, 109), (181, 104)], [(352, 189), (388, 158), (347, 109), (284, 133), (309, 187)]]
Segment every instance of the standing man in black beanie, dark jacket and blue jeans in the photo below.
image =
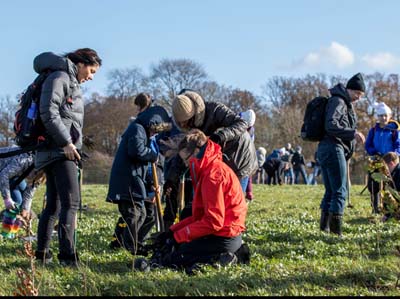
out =
[(325, 194), (320, 205), (320, 229), (341, 236), (344, 207), (349, 192), (348, 161), (353, 155), (355, 142), (365, 142), (364, 135), (356, 130), (357, 117), (352, 104), (364, 96), (364, 79), (358, 73), (350, 78), (346, 87), (339, 83), (329, 92), (331, 97), (325, 110), (325, 134), (317, 150), (325, 185)]

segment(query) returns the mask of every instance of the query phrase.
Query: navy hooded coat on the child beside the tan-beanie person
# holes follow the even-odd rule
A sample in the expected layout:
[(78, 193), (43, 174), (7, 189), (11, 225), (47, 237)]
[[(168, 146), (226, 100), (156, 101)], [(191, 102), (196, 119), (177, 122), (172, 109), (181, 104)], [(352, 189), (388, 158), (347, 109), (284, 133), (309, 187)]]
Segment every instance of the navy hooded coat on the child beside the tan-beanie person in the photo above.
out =
[(111, 168), (106, 201), (139, 201), (147, 197), (146, 172), (149, 162), (155, 162), (158, 154), (150, 148), (151, 125), (169, 123), (166, 110), (153, 106), (130, 123), (122, 134)]

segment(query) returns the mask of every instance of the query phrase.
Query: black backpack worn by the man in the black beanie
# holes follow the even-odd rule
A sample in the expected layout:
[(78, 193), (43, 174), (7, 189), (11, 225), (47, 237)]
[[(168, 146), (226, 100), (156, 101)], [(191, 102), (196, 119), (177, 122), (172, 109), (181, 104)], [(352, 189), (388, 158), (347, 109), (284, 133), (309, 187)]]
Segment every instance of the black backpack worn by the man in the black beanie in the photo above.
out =
[(318, 142), (324, 137), (325, 107), (328, 98), (319, 96), (308, 102), (301, 126), (300, 137), (304, 141)]

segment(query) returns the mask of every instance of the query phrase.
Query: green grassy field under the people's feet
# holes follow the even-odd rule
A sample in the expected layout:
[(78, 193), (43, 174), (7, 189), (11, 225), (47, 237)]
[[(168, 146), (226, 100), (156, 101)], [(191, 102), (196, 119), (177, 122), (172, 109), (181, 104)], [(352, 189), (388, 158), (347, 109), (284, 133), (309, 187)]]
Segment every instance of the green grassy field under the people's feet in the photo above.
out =
[[(248, 266), (206, 267), (194, 276), (168, 269), (142, 273), (127, 265), (133, 256), (112, 251), (108, 243), (117, 207), (105, 202), (107, 186), (84, 185), (78, 227), (82, 266), (64, 268), (55, 258), (36, 267), (39, 295), (47, 296), (317, 296), (400, 295), (400, 223), (376, 221), (368, 192), (353, 186), (344, 217), (344, 238), (318, 229), (323, 186), (254, 185), (244, 240), (251, 249)], [(43, 188), (34, 210), (40, 212)], [(36, 231), (37, 220), (34, 222)], [(13, 295), (17, 269), (29, 272), (30, 261), (21, 240), (2, 240), (0, 295)], [(51, 248), (57, 253), (57, 239)], [(34, 248), (36, 244), (34, 243)]]

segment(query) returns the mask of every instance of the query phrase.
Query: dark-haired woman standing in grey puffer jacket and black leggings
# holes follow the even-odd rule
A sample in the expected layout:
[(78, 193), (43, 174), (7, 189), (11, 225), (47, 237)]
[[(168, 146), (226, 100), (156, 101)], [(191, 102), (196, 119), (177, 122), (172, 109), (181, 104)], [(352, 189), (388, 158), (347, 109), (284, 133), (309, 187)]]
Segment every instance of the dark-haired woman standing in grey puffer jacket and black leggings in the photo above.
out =
[(58, 259), (62, 265), (77, 265), (74, 243), (79, 207), (78, 161), (82, 146), (83, 98), (80, 84), (92, 80), (101, 66), (96, 51), (83, 48), (59, 56), (51, 52), (34, 59), (37, 73), (51, 71), (43, 83), (39, 113), (46, 129), (45, 148), (36, 153), (36, 169), (46, 172), (46, 207), (38, 226), (36, 259), (52, 259), (49, 250), (58, 217)]

